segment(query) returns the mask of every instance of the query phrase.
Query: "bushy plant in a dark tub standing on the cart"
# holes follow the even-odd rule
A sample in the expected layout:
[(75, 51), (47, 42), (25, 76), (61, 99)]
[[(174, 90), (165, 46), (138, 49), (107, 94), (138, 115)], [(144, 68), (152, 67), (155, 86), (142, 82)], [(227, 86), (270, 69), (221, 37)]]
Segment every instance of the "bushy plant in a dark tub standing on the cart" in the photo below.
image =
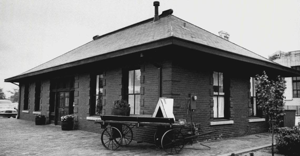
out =
[(130, 115), (130, 105), (126, 100), (116, 100), (113, 102), (114, 107), (111, 109), (112, 115), (118, 116), (129, 116)]

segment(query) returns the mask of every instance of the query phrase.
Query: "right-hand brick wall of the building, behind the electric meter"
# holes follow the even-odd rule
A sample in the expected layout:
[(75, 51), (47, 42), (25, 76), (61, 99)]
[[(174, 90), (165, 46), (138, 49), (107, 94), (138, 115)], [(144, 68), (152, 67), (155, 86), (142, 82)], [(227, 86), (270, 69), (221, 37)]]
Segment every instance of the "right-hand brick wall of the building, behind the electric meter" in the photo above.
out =
[[(249, 102), (250, 77), (230, 78), (230, 120), (234, 124), (210, 126), (211, 121), (217, 121), (210, 118), (213, 113), (213, 96), (211, 90), (213, 84), (210, 82), (213, 78), (212, 72), (202, 72), (196, 69), (188, 69), (182, 66), (173, 66), (172, 68), (172, 98), (174, 99), (174, 115), (177, 119), (186, 119), (185, 104), (188, 103), (188, 93), (196, 95), (196, 110), (192, 112), (193, 122), (200, 123), (204, 132), (219, 130), (217, 133), (207, 135), (210, 138), (226, 138), (249, 134), (265, 132), (268, 130), (267, 122), (249, 123)], [(212, 103), (212, 105), (211, 105)], [(190, 121), (189, 117), (188, 120)], [(249, 129), (250, 128), (250, 129)], [(204, 139), (204, 137), (200, 138)]]

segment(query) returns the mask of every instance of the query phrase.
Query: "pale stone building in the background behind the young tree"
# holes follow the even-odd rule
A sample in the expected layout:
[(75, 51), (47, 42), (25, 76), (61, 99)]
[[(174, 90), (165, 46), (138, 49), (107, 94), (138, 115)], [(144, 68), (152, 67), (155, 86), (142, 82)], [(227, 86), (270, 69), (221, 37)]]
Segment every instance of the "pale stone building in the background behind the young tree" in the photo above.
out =
[[(276, 51), (268, 56), (270, 60), (283, 66), (300, 70), (300, 50), (283, 52)], [(295, 109), (300, 114), (300, 77), (289, 77), (286, 80), (286, 90), (284, 91), (285, 109)]]

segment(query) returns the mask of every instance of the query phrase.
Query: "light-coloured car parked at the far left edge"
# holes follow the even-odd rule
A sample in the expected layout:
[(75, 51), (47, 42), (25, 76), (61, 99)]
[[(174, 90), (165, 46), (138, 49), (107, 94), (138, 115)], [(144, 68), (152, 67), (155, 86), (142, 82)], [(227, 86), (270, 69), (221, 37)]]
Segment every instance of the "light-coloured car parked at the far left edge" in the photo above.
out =
[(17, 110), (13, 108), (11, 101), (0, 100), (0, 117), (16, 118), (17, 115)]

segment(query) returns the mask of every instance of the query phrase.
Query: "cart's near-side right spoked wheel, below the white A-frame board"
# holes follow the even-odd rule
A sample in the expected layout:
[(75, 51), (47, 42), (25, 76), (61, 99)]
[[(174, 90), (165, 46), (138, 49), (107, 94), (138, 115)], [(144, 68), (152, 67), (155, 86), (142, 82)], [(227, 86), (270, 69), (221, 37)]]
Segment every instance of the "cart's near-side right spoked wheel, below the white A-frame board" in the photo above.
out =
[(178, 154), (184, 147), (184, 137), (178, 130), (168, 130), (161, 138), (161, 146), (169, 154)]

